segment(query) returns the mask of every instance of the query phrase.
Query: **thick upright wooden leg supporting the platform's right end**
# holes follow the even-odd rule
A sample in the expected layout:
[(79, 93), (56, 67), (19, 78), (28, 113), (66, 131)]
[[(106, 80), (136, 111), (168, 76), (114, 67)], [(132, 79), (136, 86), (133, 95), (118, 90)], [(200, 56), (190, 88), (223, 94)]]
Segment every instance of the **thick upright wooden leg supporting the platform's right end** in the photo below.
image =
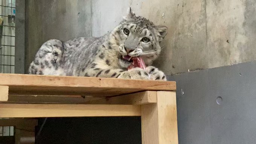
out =
[(176, 93), (158, 91), (157, 103), (141, 106), (142, 144), (178, 144)]

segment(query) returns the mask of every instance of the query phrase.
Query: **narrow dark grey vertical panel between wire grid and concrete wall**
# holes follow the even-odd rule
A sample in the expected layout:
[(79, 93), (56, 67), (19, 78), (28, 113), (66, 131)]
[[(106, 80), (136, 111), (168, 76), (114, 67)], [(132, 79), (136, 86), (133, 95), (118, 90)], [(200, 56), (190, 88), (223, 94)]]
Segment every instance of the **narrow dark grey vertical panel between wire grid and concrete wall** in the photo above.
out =
[(25, 0), (16, 0), (15, 16), (15, 73), (24, 74)]

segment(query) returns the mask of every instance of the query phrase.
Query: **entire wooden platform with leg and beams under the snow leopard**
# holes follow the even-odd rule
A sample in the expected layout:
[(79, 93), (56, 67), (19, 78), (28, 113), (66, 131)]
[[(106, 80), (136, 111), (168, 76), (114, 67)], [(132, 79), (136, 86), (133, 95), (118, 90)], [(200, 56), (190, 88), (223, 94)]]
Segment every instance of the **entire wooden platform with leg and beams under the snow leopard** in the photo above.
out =
[(176, 83), (0, 74), (0, 118), (141, 116), (143, 144), (178, 144)]

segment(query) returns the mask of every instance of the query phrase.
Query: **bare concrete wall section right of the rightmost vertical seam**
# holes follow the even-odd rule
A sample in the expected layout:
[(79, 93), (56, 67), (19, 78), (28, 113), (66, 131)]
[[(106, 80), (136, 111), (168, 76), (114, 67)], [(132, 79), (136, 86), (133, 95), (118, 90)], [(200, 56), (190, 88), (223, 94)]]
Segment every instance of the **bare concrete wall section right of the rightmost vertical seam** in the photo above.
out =
[(255, 0), (206, 0), (208, 67), (256, 59)]

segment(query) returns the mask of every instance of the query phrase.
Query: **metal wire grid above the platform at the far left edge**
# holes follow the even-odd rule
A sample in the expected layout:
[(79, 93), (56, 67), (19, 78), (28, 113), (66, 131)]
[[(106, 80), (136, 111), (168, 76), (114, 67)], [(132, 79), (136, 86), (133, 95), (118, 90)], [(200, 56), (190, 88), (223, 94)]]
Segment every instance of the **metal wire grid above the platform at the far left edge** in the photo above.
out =
[(0, 0), (0, 73), (14, 73), (15, 10), (15, 0)]

